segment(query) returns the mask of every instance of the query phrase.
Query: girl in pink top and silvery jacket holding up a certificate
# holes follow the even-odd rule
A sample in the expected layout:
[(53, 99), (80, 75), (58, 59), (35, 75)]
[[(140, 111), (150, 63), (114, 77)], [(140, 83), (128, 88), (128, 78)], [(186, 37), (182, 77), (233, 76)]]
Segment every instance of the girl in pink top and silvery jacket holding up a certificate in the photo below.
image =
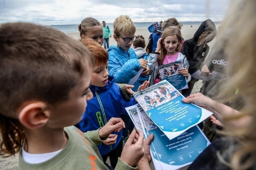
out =
[[(160, 74), (158, 66), (174, 62), (176, 60), (182, 60), (183, 67), (178, 73), (181, 73), (186, 77), (187, 82), (190, 81), (191, 76), (188, 73), (189, 64), (186, 56), (178, 52), (181, 44), (181, 31), (178, 27), (169, 27), (163, 31), (162, 37), (158, 40), (156, 51), (150, 53), (148, 59), (148, 66), (152, 73), (150, 77), (150, 85), (160, 82)], [(159, 51), (161, 50), (161, 53)]]

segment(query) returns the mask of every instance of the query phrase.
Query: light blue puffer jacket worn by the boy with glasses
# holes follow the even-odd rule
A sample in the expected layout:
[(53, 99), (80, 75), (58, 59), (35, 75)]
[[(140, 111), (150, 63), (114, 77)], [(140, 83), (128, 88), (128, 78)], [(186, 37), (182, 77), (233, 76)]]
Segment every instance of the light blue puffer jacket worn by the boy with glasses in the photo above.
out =
[[(116, 83), (128, 83), (140, 69), (140, 63), (132, 48), (126, 52), (114, 45), (108, 48), (108, 72), (114, 76)], [(139, 80), (135, 82), (133, 91), (139, 88)]]

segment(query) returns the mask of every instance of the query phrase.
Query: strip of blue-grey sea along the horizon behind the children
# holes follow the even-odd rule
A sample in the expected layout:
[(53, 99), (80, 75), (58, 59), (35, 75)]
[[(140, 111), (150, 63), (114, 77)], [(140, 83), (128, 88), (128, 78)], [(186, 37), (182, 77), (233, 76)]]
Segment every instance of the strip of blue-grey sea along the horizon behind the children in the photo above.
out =
[[(202, 22), (181, 22), (183, 25), (200, 25)], [(215, 24), (219, 24), (220, 22), (214, 22)], [(136, 28), (147, 28), (152, 22), (134, 22)], [(113, 23), (108, 23), (107, 24), (110, 29), (113, 29)], [(66, 33), (75, 33), (79, 32), (78, 31), (78, 24), (71, 24), (71, 25), (48, 25), (48, 27), (53, 27), (58, 30), (64, 31)]]

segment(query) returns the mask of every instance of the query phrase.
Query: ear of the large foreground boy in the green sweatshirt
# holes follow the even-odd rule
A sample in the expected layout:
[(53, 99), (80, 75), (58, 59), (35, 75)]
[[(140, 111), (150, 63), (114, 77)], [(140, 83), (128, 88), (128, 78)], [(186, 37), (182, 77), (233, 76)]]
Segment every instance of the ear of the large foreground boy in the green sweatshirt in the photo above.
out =
[(50, 118), (50, 111), (46, 110), (46, 103), (33, 102), (22, 108), (19, 120), (26, 128), (41, 128)]

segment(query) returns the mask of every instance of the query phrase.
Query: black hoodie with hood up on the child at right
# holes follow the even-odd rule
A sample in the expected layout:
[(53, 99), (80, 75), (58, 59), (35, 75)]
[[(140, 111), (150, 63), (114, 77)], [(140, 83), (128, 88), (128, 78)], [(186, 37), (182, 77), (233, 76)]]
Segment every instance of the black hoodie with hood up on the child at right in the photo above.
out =
[[(204, 65), (203, 62), (209, 52), (209, 46), (207, 44), (205, 44), (204, 47), (203, 45), (197, 45), (200, 35), (206, 30), (215, 31), (215, 35), (212, 37), (212, 39), (214, 39), (216, 36), (215, 24), (212, 22), (212, 20), (207, 19), (206, 21), (202, 22), (194, 34), (194, 37), (186, 40), (182, 46), (182, 54), (187, 57), (187, 61), (189, 62), (188, 72), (190, 74), (196, 72), (197, 70), (201, 70)], [(212, 39), (210, 41), (212, 41)]]

